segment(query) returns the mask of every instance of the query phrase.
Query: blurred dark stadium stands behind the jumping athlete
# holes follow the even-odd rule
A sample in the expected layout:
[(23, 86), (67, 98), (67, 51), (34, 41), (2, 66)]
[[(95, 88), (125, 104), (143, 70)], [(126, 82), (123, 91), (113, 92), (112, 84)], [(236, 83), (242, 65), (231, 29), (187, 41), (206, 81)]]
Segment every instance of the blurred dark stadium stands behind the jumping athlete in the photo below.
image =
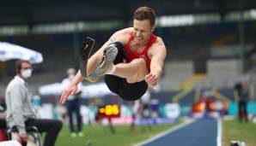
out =
[[(191, 105), (198, 91), (217, 89), (235, 102), (233, 87), (242, 80), (249, 99), (256, 99), (255, 1), (9, 0), (0, 5), (0, 41), (43, 54), (44, 62), (34, 65), (29, 80), (39, 94), (41, 85), (60, 82), (67, 68), (78, 68), (77, 50), (86, 36), (100, 47), (113, 32), (131, 26), (133, 11), (143, 5), (155, 9), (155, 33), (168, 49), (160, 91), (152, 91), (153, 98)], [(15, 75), (14, 62), (0, 62), (1, 101)], [(46, 96), (42, 102), (56, 103), (58, 97)]]

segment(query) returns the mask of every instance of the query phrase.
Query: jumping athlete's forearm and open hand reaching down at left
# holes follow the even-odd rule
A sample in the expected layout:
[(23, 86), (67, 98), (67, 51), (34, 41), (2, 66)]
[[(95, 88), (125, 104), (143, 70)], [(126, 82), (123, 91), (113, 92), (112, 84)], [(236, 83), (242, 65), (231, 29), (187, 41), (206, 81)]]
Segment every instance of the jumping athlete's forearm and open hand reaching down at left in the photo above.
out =
[(62, 91), (62, 95), (60, 97), (60, 102), (63, 104), (66, 102), (70, 94), (75, 94), (77, 91), (77, 85), (82, 82), (82, 74), (80, 70), (76, 73), (76, 76), (72, 79), (70, 82), (70, 85), (68, 85), (64, 91)]

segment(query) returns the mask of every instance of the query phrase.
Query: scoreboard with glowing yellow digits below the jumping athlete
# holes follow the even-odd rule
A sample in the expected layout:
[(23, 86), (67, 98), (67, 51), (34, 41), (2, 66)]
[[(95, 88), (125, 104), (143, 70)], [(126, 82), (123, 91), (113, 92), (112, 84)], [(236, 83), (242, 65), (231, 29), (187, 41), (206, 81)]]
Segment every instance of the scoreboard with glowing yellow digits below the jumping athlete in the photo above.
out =
[(107, 104), (99, 106), (96, 114), (96, 120), (111, 119), (120, 117), (120, 105), (119, 104)]

